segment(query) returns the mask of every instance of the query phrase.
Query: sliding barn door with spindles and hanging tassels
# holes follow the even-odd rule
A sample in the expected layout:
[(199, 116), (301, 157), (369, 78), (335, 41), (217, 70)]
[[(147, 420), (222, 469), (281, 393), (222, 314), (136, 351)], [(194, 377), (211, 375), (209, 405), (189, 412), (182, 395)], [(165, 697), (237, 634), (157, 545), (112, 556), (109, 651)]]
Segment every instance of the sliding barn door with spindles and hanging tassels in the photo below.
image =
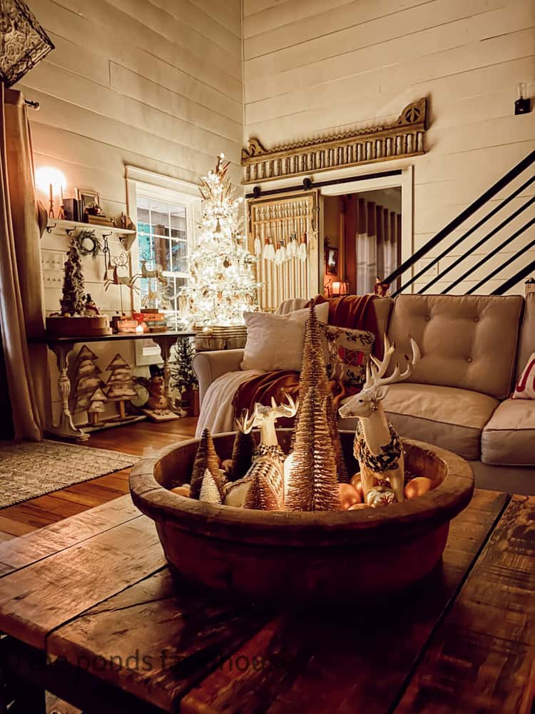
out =
[(257, 259), (258, 303), (276, 310), (288, 298), (319, 292), (318, 191), (248, 199), (249, 250)]

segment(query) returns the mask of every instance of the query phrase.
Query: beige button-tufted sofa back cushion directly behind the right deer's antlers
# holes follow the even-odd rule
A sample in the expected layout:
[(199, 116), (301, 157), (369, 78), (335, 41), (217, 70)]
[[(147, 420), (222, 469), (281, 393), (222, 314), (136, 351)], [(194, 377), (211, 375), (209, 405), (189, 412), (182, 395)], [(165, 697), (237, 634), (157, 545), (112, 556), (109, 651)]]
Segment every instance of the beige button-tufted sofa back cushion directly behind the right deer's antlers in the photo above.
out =
[(400, 366), (409, 335), (422, 351), (409, 382), (458, 387), (504, 399), (514, 378), (521, 296), (400, 295), (389, 340)]

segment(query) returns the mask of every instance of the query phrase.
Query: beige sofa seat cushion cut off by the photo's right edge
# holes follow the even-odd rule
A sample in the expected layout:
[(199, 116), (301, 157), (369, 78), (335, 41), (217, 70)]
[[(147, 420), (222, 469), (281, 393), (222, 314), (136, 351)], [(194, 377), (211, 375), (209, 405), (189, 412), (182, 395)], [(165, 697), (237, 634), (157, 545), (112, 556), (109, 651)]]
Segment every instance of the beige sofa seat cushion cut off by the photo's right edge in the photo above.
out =
[(535, 466), (535, 401), (506, 399), (481, 433), (481, 461)]

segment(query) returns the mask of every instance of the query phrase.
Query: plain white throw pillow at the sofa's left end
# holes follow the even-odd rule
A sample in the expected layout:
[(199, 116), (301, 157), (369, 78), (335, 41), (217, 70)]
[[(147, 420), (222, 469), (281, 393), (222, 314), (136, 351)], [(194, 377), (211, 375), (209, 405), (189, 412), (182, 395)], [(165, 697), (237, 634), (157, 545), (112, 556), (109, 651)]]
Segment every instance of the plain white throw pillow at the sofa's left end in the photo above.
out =
[[(327, 322), (329, 303), (316, 306), (317, 319)], [(242, 369), (295, 369), (300, 371), (302, 348), (305, 342), (305, 323), (309, 308), (287, 315), (272, 313), (243, 313), (247, 325), (247, 343)]]

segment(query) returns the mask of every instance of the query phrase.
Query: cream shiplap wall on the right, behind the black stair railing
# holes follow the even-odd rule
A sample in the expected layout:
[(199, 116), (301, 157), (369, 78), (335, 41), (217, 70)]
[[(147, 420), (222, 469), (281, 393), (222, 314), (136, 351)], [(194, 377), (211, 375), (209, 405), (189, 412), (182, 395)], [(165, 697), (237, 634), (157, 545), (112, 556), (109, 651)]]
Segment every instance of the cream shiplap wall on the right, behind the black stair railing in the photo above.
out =
[[(398, 162), (414, 164), (413, 249), (535, 148), (535, 114), (514, 116), (516, 84), (529, 81), (535, 94), (533, 0), (243, 4), (245, 136), (258, 137), (266, 148), (383, 123), (409, 102), (429, 97), (428, 153)], [(516, 198), (510, 210), (533, 191)], [(526, 211), (510, 231), (533, 216)], [(489, 229), (498, 222), (490, 221)], [(459, 231), (449, 242), (458, 236)], [(533, 238), (531, 229), (500, 260)], [(472, 265), (498, 243), (495, 238), (480, 248)], [(466, 252), (466, 246), (460, 250)], [(531, 249), (523, 260), (534, 257)], [(445, 258), (440, 268), (453, 259)], [(463, 264), (463, 271), (469, 265)], [(513, 274), (515, 267), (519, 263), (501, 275)], [(498, 283), (487, 283), (482, 291)], [(439, 289), (437, 284), (434, 290)]]

